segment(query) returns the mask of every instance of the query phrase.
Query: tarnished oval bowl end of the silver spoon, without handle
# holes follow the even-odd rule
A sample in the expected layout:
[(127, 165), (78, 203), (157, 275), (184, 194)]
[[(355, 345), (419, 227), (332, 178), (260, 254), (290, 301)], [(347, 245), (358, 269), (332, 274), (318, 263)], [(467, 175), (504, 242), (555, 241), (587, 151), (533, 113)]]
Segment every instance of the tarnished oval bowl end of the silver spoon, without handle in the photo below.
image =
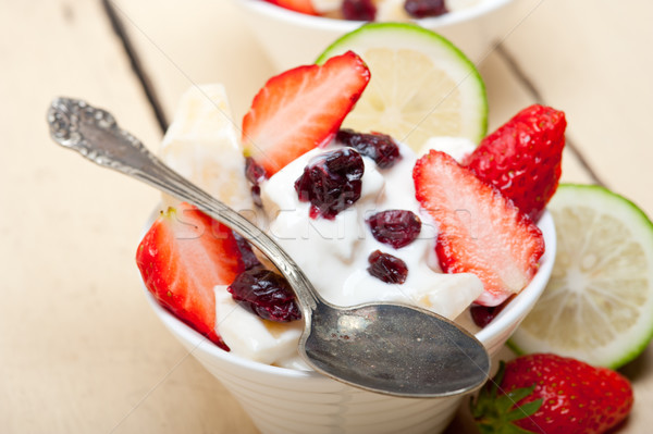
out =
[[(374, 339), (370, 339), (374, 336)], [(478, 340), (429, 311), (367, 303), (320, 303), (299, 340), (318, 372), (371, 392), (444, 397), (476, 389), (490, 369)]]

